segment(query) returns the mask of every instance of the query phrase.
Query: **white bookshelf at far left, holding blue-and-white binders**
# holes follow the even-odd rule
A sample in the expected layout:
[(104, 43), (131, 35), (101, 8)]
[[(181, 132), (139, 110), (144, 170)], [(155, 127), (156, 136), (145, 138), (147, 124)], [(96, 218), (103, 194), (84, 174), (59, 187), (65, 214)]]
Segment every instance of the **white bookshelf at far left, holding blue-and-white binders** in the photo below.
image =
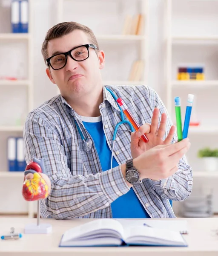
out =
[[(13, 73), (11, 75), (12, 79), (9, 77), (8, 79), (0, 76), (0, 95), (1, 97), (7, 98), (7, 101), (0, 102), (0, 108), (4, 109), (6, 112), (7, 107), (5, 103), (10, 103), (10, 107), (14, 109), (14, 113), (20, 110), (20, 106), (23, 102), (23, 111), (22, 114), (28, 114), (29, 111), (33, 108), (33, 24), (32, 24), (32, 17), (33, 17), (33, 0), (29, 0), (29, 32), (28, 33), (12, 33), (10, 31), (10, 24), (6, 24), (6, 29), (3, 26), (0, 26), (0, 47), (2, 49), (7, 48), (16, 48), (18, 51), (23, 50), (23, 54), (25, 58), (23, 61), (26, 62), (26, 68), (23, 68), (23, 73), (25, 79), (21, 79), (19, 77), (16, 78)], [(0, 13), (4, 13), (8, 15), (7, 21), (10, 22), (10, 5), (3, 6), (0, 4)], [(3, 30), (3, 31), (1, 31)], [(21, 49), (20, 49), (21, 47)], [(23, 47), (23, 48), (22, 48)], [(19, 60), (19, 56), (15, 56), (15, 60)], [(10, 63), (11, 59), (7, 65), (11, 65), (14, 63)], [(3, 67), (1, 67), (3, 69)], [(17, 94), (17, 95), (16, 95)], [(10, 97), (11, 96), (11, 97)], [(13, 98), (14, 97), (14, 98)], [(19, 98), (20, 97), (20, 98)], [(20, 103), (17, 101), (17, 98), (20, 99)], [(10, 101), (11, 100), (11, 101)], [(18, 102), (18, 103), (17, 103)], [(23, 182), (23, 172), (9, 172), (8, 171), (8, 163), (7, 163), (7, 138), (8, 137), (22, 137), (23, 136), (23, 123), (19, 125), (13, 122), (14, 115), (12, 112), (6, 113), (5, 115), (1, 113), (1, 123), (0, 123), (0, 162), (1, 162), (1, 169), (0, 169), (0, 182), (1, 182), (1, 189), (3, 187), (9, 186), (10, 189), (14, 189), (14, 193), (11, 190), (9, 195), (6, 195), (3, 190), (1, 190), (1, 198), (0, 201), (3, 202), (0, 207), (0, 214), (5, 213), (14, 213), (16, 212), (19, 214), (20, 212), (26, 211), (26, 214), (32, 218), (34, 215), (34, 204), (33, 202), (26, 202), (22, 198), (21, 188)], [(4, 117), (7, 116), (7, 120)], [(11, 120), (10, 120), (11, 119)], [(11, 123), (7, 123), (8, 121)], [(2, 186), (4, 184), (4, 186)], [(19, 189), (20, 188), (20, 189)], [(18, 193), (19, 191), (19, 193)], [(4, 203), (4, 202), (7, 202)]]

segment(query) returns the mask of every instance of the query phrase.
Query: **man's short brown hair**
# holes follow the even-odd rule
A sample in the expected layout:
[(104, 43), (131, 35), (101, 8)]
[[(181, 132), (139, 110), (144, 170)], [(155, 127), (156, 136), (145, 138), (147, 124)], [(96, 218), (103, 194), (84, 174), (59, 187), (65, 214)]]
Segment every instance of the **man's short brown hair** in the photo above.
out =
[(49, 31), (46, 34), (45, 40), (42, 44), (41, 51), (42, 51), (42, 55), (45, 63), (46, 63), (46, 59), (49, 58), (48, 51), (47, 51), (48, 42), (52, 39), (60, 38), (63, 35), (67, 35), (76, 29), (81, 30), (85, 32), (87, 35), (89, 35), (90, 44), (95, 44), (99, 49), (98, 41), (94, 33), (92, 32), (92, 29), (89, 29), (89, 27), (73, 21), (58, 23), (57, 25), (54, 25), (51, 29), (49, 29)]

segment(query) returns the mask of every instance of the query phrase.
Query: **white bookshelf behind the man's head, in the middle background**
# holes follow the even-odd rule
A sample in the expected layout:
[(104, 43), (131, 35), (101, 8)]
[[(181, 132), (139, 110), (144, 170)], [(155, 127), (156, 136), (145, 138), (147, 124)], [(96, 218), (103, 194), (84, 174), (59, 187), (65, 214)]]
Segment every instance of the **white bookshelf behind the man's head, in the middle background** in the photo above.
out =
[[(147, 84), (149, 0), (117, 0), (108, 2), (106, 0), (86, 2), (86, 5), (89, 5), (92, 11), (86, 13), (86, 10), (84, 10), (84, 14), (78, 15), (73, 10), (80, 8), (80, 5), (84, 4), (83, 1), (78, 3), (76, 0), (58, 0), (56, 3), (57, 23), (71, 21), (73, 15), (73, 20), (87, 25), (93, 30), (100, 49), (106, 53), (106, 67), (102, 70), (104, 84)], [(94, 10), (96, 8), (93, 9), (92, 7), (96, 5), (99, 6), (98, 12)], [(74, 8), (71, 8), (72, 6)], [(86, 6), (87, 9), (89, 7)], [(71, 10), (70, 14), (69, 9)], [(91, 21), (95, 12), (101, 20), (99, 23)], [(102, 15), (100, 15), (101, 12), (103, 12)], [(115, 13), (117, 14), (116, 16)], [(90, 23), (86, 24), (87, 17), (89, 16)], [(102, 23), (102, 26), (100, 23)], [(108, 26), (108, 24), (111, 25)], [(120, 59), (123, 59), (123, 61), (120, 61), (118, 58), (116, 59), (115, 52), (120, 54)], [(129, 52), (134, 53), (129, 54)], [(134, 62), (137, 60), (142, 60), (142, 63), (135, 67)], [(120, 77), (118, 73), (119, 67), (122, 67), (120, 73), (125, 73), (124, 77)], [(134, 70), (135, 72), (133, 72)], [(131, 73), (132, 76), (130, 77)], [(60, 93), (58, 88), (57, 93)]]

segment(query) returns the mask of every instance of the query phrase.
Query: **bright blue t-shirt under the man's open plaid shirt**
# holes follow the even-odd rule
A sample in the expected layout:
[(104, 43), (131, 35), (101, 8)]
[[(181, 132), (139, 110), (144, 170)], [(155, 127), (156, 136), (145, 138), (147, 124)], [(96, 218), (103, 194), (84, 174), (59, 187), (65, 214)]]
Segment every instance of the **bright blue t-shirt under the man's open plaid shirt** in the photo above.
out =
[[(102, 171), (109, 170), (111, 168), (111, 150), (106, 142), (101, 116), (91, 118), (82, 116), (81, 118), (83, 125), (94, 140)], [(113, 157), (112, 167), (118, 165)], [(132, 188), (125, 195), (113, 201), (111, 208), (113, 218), (150, 218)]]

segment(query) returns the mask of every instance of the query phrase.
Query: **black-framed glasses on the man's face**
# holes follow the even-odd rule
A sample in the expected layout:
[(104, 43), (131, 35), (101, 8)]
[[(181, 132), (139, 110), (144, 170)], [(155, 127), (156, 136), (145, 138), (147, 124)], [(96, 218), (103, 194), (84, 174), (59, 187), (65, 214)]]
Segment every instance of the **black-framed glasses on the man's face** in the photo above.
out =
[(59, 70), (66, 66), (68, 55), (75, 61), (84, 61), (89, 58), (89, 47), (98, 50), (95, 44), (83, 44), (69, 50), (69, 52), (57, 53), (47, 58), (47, 64), (48, 66), (50, 65), (53, 70)]

